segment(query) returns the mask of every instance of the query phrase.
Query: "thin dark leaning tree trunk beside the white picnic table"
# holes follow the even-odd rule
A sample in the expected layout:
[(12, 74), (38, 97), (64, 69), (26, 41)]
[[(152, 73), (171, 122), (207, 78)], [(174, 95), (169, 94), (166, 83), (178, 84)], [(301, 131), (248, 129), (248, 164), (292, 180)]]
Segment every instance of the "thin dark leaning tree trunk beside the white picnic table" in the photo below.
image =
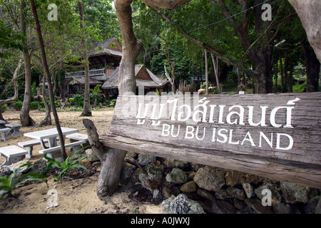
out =
[(60, 128), (58, 114), (57, 114), (57, 110), (56, 110), (56, 106), (55, 106), (54, 91), (53, 91), (52, 84), (51, 84), (51, 76), (49, 73), (49, 66), (48, 66), (48, 62), (47, 62), (47, 58), (46, 58), (44, 40), (41, 35), (41, 26), (40, 26), (40, 22), (38, 19), (38, 14), (37, 14), (36, 6), (34, 4), (34, 0), (30, 0), (30, 5), (31, 5), (32, 14), (34, 15), (34, 22), (36, 24), (36, 31), (37, 31), (37, 35), (38, 35), (38, 39), (39, 39), (39, 46), (40, 46), (40, 51), (41, 51), (41, 60), (44, 65), (44, 73), (45, 73), (47, 81), (48, 81), (49, 99), (50, 99), (52, 113), (54, 115), (55, 125), (56, 125), (58, 135), (59, 135), (59, 140), (60, 140), (60, 145), (61, 145), (61, 157), (63, 157), (63, 160), (66, 160), (67, 154), (65, 151), (65, 143), (64, 143), (63, 134), (62, 134), (62, 131)]

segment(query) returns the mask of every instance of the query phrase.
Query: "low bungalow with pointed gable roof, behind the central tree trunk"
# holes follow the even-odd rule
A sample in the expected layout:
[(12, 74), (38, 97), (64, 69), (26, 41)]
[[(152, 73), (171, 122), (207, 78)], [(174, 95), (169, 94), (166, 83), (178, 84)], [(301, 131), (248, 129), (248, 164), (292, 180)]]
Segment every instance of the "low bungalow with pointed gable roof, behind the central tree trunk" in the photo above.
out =
[[(107, 78), (105, 83), (101, 88), (103, 90), (108, 90), (109, 98), (116, 98), (118, 95), (118, 73), (119, 67), (113, 71), (111, 76)], [(135, 76), (136, 76), (136, 94), (138, 94), (138, 89), (143, 88), (144, 95), (151, 91), (156, 91), (158, 89), (159, 93), (168, 92), (170, 90), (169, 81), (161, 80), (155, 74), (153, 74), (148, 68), (145, 68), (143, 64), (136, 64), (135, 66)]]

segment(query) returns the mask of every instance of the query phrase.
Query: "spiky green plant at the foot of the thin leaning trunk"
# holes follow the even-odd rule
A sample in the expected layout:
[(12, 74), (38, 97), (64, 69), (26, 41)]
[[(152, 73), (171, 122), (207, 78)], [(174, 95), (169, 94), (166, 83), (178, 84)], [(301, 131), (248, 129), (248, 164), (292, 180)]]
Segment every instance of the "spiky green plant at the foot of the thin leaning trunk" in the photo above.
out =
[(61, 169), (61, 171), (58, 173), (58, 176), (54, 177), (54, 179), (57, 182), (59, 181), (61, 175), (68, 175), (69, 171), (72, 170), (73, 168), (81, 168), (81, 169), (86, 170), (88, 172), (88, 169), (86, 167), (77, 163), (77, 162), (80, 162), (81, 160), (85, 159), (86, 157), (81, 156), (81, 157), (75, 158), (77, 152), (78, 151), (69, 154), (63, 163), (60, 163), (60, 162), (54, 160), (54, 158), (47, 157), (46, 154), (44, 154), (44, 158), (47, 160), (47, 163), (49, 163), (49, 165), (47, 166), (46, 172), (51, 170), (51, 167), (58, 167), (59, 169)]

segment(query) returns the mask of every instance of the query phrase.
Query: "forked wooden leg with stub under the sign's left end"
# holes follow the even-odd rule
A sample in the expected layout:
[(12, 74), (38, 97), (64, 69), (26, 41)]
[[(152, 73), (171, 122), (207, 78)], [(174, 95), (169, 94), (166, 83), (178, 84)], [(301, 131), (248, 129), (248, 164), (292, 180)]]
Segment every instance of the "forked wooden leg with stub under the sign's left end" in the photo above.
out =
[(123, 160), (127, 152), (103, 147), (99, 141), (97, 129), (91, 120), (84, 119), (83, 125), (86, 127), (91, 149), (101, 160), (101, 174), (98, 177), (96, 190), (99, 199), (106, 202), (106, 197), (113, 195), (118, 188), (121, 168), (123, 167)]

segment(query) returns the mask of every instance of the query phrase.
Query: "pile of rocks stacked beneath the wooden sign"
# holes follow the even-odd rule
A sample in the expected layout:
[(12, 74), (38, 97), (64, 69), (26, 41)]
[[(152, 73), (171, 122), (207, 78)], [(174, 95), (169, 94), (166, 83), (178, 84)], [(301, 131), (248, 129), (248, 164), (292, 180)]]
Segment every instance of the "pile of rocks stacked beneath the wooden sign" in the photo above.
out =
[[(127, 156), (141, 167), (124, 162), (121, 184), (141, 185), (154, 198), (163, 197), (168, 213), (320, 213), (320, 190), (311, 187), (151, 155)], [(196, 202), (203, 209), (186, 206)]]

